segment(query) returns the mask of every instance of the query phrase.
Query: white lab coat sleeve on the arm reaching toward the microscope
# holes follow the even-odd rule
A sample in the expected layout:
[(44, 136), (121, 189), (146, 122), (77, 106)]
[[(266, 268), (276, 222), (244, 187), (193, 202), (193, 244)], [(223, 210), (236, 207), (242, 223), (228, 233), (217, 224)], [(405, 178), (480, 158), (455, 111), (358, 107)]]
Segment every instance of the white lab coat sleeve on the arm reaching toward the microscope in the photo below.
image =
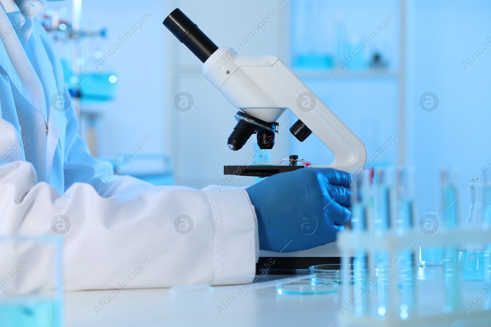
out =
[[(0, 123), (4, 152), (17, 138)], [(141, 181), (123, 176), (112, 187), (132, 183)], [(144, 188), (101, 197), (91, 185), (74, 183), (61, 195), (36, 183), (30, 163), (11, 162), (0, 167), (0, 234), (55, 235), (52, 221), (65, 215), (66, 290), (236, 284), (254, 276), (256, 217), (245, 190)], [(30, 275), (16, 278), (24, 276)]]

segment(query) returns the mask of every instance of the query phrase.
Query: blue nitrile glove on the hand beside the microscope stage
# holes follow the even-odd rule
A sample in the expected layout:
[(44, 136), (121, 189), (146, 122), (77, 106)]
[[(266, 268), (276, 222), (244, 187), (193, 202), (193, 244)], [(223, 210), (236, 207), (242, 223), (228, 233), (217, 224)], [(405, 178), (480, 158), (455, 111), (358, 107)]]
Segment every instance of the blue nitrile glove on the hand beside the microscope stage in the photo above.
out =
[(351, 174), (333, 168), (302, 168), (246, 188), (256, 209), (259, 248), (294, 252), (336, 240), (351, 219)]

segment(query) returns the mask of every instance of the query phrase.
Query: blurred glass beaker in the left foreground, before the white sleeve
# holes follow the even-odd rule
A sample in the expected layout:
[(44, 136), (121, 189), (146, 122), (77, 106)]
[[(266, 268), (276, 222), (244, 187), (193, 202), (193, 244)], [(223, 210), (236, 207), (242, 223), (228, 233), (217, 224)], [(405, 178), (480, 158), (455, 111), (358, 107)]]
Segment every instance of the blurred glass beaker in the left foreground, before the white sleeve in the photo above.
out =
[(60, 237), (0, 236), (1, 326), (63, 325)]

